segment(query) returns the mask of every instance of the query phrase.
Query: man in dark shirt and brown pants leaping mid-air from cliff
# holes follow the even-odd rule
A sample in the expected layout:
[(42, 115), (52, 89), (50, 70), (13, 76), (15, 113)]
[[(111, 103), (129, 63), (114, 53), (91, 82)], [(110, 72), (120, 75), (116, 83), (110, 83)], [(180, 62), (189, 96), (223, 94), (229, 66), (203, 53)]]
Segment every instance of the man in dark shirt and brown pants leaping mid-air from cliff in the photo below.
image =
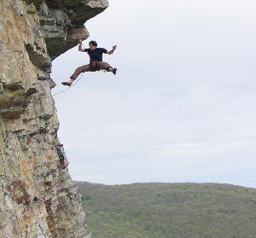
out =
[(96, 41), (90, 41), (89, 49), (83, 49), (82, 40), (79, 40), (79, 51), (87, 52), (90, 56), (90, 64), (78, 67), (73, 75), (70, 77), (68, 82), (62, 82), (61, 84), (71, 86), (73, 81), (79, 77), (80, 73), (84, 72), (96, 72), (100, 70), (106, 70), (108, 72), (112, 72), (114, 75), (117, 72), (117, 68), (111, 67), (107, 62), (102, 61), (102, 54), (112, 55), (114, 50), (116, 49), (116, 45), (113, 46), (113, 49), (107, 50), (104, 48), (97, 48)]

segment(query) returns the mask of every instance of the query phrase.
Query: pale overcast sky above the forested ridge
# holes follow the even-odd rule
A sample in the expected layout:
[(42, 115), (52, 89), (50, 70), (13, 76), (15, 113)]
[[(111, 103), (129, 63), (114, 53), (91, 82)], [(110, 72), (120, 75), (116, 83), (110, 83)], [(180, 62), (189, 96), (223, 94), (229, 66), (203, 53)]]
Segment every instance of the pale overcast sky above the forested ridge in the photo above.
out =
[[(255, 0), (110, 0), (85, 24), (103, 60), (55, 103), (75, 180), (256, 188)], [(53, 62), (53, 93), (88, 55)]]

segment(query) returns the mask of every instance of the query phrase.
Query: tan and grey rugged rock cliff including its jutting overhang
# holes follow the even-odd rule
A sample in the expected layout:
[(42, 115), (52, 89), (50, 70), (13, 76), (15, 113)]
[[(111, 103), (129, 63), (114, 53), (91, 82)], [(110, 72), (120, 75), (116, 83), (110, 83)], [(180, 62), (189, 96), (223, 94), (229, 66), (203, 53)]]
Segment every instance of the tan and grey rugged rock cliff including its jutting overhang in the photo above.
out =
[(89, 238), (61, 169), (51, 61), (88, 38), (106, 0), (0, 1), (0, 238)]

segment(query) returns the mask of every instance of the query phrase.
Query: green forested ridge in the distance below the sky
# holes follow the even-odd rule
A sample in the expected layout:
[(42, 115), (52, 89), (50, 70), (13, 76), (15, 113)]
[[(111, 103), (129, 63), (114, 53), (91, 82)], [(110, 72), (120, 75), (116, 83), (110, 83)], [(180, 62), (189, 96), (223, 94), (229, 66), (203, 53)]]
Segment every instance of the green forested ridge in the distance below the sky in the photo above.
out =
[(95, 238), (256, 238), (256, 189), (77, 182)]

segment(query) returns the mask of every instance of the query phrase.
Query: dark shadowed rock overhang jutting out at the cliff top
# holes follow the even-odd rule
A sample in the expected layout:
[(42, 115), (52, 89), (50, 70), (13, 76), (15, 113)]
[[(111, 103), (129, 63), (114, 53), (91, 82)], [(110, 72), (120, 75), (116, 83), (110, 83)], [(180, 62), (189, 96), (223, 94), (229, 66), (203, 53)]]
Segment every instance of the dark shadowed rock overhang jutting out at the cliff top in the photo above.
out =
[(40, 17), (49, 57), (54, 60), (86, 39), (84, 23), (108, 8), (108, 0), (25, 0)]

